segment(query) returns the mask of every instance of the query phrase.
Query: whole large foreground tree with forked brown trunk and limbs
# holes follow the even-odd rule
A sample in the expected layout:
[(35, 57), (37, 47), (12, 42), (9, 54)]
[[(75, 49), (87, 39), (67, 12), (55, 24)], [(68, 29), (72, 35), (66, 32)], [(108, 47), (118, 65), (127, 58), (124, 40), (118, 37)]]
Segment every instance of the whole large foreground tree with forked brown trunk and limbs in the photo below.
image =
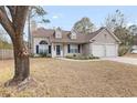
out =
[[(11, 18), (8, 16), (7, 9)], [(1, 6), (0, 23), (8, 32), (13, 43), (14, 52), (14, 76), (6, 85), (18, 85), (28, 80), (30, 75), (30, 61), (28, 49), (23, 40), (23, 29), (28, 16), (29, 7), (27, 6)]]

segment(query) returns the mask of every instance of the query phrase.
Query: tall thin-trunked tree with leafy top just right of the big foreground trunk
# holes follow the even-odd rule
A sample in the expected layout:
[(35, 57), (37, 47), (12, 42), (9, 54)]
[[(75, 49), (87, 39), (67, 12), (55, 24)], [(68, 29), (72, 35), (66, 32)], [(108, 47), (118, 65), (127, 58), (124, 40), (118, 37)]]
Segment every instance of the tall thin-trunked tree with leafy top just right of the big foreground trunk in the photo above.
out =
[(45, 19), (44, 16), (48, 14), (48, 12), (40, 6), (32, 6), (29, 8), (29, 14), (28, 14), (28, 43), (29, 43), (29, 52), (31, 53), (31, 20), (34, 20), (35, 18), (40, 18), (39, 21), (34, 20), (36, 23), (50, 23), (50, 20)]

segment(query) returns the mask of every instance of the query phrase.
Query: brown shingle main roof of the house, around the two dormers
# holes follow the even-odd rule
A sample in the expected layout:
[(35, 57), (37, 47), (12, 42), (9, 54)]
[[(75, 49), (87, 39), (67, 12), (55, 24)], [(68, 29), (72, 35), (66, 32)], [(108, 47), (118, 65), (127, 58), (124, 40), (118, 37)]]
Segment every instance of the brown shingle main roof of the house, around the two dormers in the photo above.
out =
[(98, 34), (103, 29), (105, 29), (105, 28), (101, 28), (99, 30), (92, 32), (91, 34), (78, 33), (78, 34), (76, 34), (76, 39), (70, 38), (71, 31), (62, 30), (62, 38), (56, 39), (54, 37), (55, 31), (53, 29), (39, 28), (32, 32), (32, 37), (33, 38), (49, 38), (51, 42), (87, 43), (87, 42), (89, 42), (89, 40), (92, 38), (94, 38), (96, 34)]

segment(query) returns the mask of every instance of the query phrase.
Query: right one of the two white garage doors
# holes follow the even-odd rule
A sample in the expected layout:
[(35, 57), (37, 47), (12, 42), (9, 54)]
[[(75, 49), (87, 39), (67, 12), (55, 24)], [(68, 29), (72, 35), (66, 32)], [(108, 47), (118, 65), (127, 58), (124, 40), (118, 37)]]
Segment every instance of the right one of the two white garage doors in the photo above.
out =
[(116, 45), (107, 44), (106, 47), (106, 56), (116, 56)]

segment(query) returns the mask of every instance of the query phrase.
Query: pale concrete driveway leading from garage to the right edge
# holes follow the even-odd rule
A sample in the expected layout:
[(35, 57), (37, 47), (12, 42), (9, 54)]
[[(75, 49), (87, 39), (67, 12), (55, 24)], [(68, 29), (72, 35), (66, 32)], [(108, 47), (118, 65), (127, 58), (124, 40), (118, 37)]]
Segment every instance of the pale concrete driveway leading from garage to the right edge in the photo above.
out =
[(117, 56), (117, 58), (104, 58), (102, 60), (109, 60), (115, 62), (128, 63), (137, 65), (137, 59), (135, 58), (125, 58), (125, 56)]

